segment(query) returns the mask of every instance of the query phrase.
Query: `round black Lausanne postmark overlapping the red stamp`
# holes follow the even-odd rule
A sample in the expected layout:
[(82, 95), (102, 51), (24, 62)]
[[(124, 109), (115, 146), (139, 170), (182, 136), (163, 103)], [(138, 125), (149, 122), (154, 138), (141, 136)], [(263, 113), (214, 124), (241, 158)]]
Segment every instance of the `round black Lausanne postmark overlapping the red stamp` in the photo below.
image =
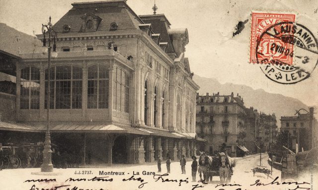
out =
[[(262, 41), (272, 37), (269, 55), (263, 56)], [(291, 47), (292, 48), (288, 48)], [(277, 54), (290, 57), (292, 64)], [(318, 42), (305, 26), (295, 22), (280, 22), (268, 27), (255, 47), (256, 62), (267, 78), (280, 84), (295, 84), (310, 77), (318, 63)]]

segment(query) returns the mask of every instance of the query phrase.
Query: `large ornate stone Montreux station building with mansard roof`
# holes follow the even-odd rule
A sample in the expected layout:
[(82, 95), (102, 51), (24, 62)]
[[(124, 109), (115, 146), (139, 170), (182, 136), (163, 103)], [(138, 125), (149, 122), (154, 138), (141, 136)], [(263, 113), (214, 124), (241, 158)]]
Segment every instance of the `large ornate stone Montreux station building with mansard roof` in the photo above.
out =
[[(199, 86), (185, 57), (187, 29), (170, 28), (164, 14), (137, 15), (126, 0), (72, 5), (53, 26), (52, 143), (92, 164), (194, 155)], [(35, 40), (33, 50), (12, 56), (15, 73), (6, 74), (15, 93), (1, 95), (14, 106), (1, 114), (14, 118), (0, 120), (2, 136), (12, 136), (2, 144), (17, 133), (44, 141), (48, 52), (43, 35)]]

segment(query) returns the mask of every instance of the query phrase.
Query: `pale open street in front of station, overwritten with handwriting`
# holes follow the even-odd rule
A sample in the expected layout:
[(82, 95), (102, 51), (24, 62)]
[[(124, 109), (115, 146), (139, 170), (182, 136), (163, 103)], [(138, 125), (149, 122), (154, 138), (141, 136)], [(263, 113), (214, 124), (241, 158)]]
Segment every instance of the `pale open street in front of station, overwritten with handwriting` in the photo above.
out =
[[(262, 154), (262, 165), (267, 166), (270, 169), (269, 164), (267, 163), (267, 154)], [(234, 169), (234, 176), (232, 177), (232, 184), (240, 184), (245, 189), (255, 189), (256, 187), (250, 187), (251, 184), (255, 183), (257, 179), (259, 179), (262, 183), (270, 183), (272, 182), (276, 176), (280, 176), (280, 171), (273, 169), (273, 176), (270, 176), (268, 179), (265, 174), (256, 173), (253, 177), (253, 173), (251, 169), (254, 167), (254, 165), (257, 165), (259, 163), (259, 154), (254, 155), (248, 155), (244, 158), (236, 158), (236, 167)], [(210, 184), (202, 184), (202, 183), (193, 183), (191, 178), (191, 162), (188, 161), (186, 164), (186, 174), (181, 174), (180, 164), (179, 162), (173, 162), (171, 163), (171, 173), (168, 176), (162, 176), (162, 178), (168, 179), (168, 180), (176, 180), (177, 182), (162, 182), (162, 180), (159, 178), (157, 182), (156, 179), (154, 179), (153, 174), (151, 173), (145, 173), (143, 174), (143, 171), (146, 172), (156, 172), (156, 174), (164, 174), (166, 172), (166, 166), (165, 164), (161, 165), (162, 172), (157, 173), (157, 164), (156, 165), (126, 165), (126, 166), (112, 166), (107, 168), (80, 168), (80, 169), (55, 169), (55, 172), (61, 173), (61, 175), (58, 176), (40, 176), (40, 175), (31, 175), (31, 172), (39, 172), (39, 168), (31, 168), (31, 169), (6, 169), (0, 171), (0, 189), (1, 190), (37, 190), (36, 188), (51, 189), (52, 187), (59, 187), (59, 186), (66, 186), (66, 187), (60, 187), (56, 190), (67, 190), (69, 188), (72, 190), (74, 187), (77, 187), (77, 190), (80, 189), (89, 189), (89, 190), (137, 190), (140, 186), (142, 190), (153, 190), (157, 189), (160, 186), (160, 189), (174, 189), (174, 190), (191, 190), (193, 188), (193, 185), (202, 186), (201, 188), (196, 188), (195, 190), (206, 190), (206, 189), (226, 189), (226, 190), (236, 190), (239, 187), (217, 187), (218, 184), (220, 184), (220, 178), (214, 177), (213, 182)], [(92, 172), (88, 175), (83, 174), (75, 174), (75, 172)], [(99, 175), (100, 172), (104, 172), (104, 175)], [(106, 175), (106, 172), (118, 172), (119, 175)], [(122, 172), (125, 172), (123, 175)], [(139, 172), (139, 175), (138, 175)], [(149, 175), (147, 175), (149, 174)], [(94, 177), (105, 177), (108, 176), (108, 178), (104, 179), (112, 179), (112, 182), (110, 181), (93, 181), (91, 180)], [(128, 180), (130, 177), (134, 176), (135, 181)], [(158, 178), (159, 176), (157, 176)], [(81, 181), (76, 182), (70, 182), (68, 180), (69, 178), (73, 179), (82, 179)], [(138, 178), (140, 178), (138, 180)], [(55, 179), (51, 180), (50, 182), (25, 182), (26, 180), (36, 180), (36, 179)], [(128, 181), (123, 181), (124, 179)], [(180, 180), (187, 180), (189, 183), (181, 182)], [(199, 180), (199, 177), (197, 175), (197, 181)], [(278, 180), (280, 182), (280, 180)], [(23, 183), (24, 182), (24, 183)], [(144, 186), (142, 187), (142, 184)], [(181, 186), (179, 186), (179, 183)], [(35, 185), (35, 187), (32, 188), (32, 186)], [(276, 187), (277, 188), (277, 187)], [(256, 189), (262, 190), (262, 189), (272, 189), (269, 187), (257, 187)], [(284, 188), (283, 188), (284, 189)], [(294, 189), (294, 187), (289, 187), (289, 189)], [(76, 190), (76, 189), (74, 189)]]

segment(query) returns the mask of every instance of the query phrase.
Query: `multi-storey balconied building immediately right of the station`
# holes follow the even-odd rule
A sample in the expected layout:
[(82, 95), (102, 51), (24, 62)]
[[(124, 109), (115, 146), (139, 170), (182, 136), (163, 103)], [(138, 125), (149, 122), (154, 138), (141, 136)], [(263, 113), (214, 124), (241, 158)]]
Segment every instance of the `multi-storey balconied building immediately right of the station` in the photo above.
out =
[(196, 132), (198, 137), (207, 140), (198, 147), (201, 151), (214, 154), (226, 144), (229, 155), (239, 156), (237, 145), (245, 141), (245, 107), (238, 95), (197, 94)]

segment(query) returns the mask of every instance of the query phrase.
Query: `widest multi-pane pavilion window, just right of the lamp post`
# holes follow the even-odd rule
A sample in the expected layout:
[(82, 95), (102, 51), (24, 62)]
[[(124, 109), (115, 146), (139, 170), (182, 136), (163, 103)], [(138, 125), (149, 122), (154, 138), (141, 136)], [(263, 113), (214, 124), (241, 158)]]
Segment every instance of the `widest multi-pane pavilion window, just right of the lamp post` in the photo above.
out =
[[(47, 108), (48, 70), (45, 70), (45, 108)], [(81, 109), (82, 68), (51, 67), (51, 109)]]

